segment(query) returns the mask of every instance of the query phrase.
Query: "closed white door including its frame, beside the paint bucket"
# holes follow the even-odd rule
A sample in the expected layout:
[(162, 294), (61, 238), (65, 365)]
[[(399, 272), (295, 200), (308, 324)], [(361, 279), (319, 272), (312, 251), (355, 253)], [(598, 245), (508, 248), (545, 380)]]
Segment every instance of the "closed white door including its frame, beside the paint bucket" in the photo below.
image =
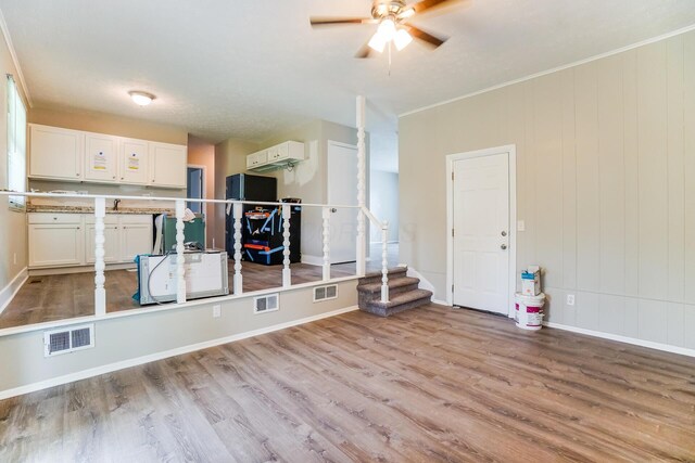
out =
[(446, 156), (446, 301), (514, 317), (516, 147)]

